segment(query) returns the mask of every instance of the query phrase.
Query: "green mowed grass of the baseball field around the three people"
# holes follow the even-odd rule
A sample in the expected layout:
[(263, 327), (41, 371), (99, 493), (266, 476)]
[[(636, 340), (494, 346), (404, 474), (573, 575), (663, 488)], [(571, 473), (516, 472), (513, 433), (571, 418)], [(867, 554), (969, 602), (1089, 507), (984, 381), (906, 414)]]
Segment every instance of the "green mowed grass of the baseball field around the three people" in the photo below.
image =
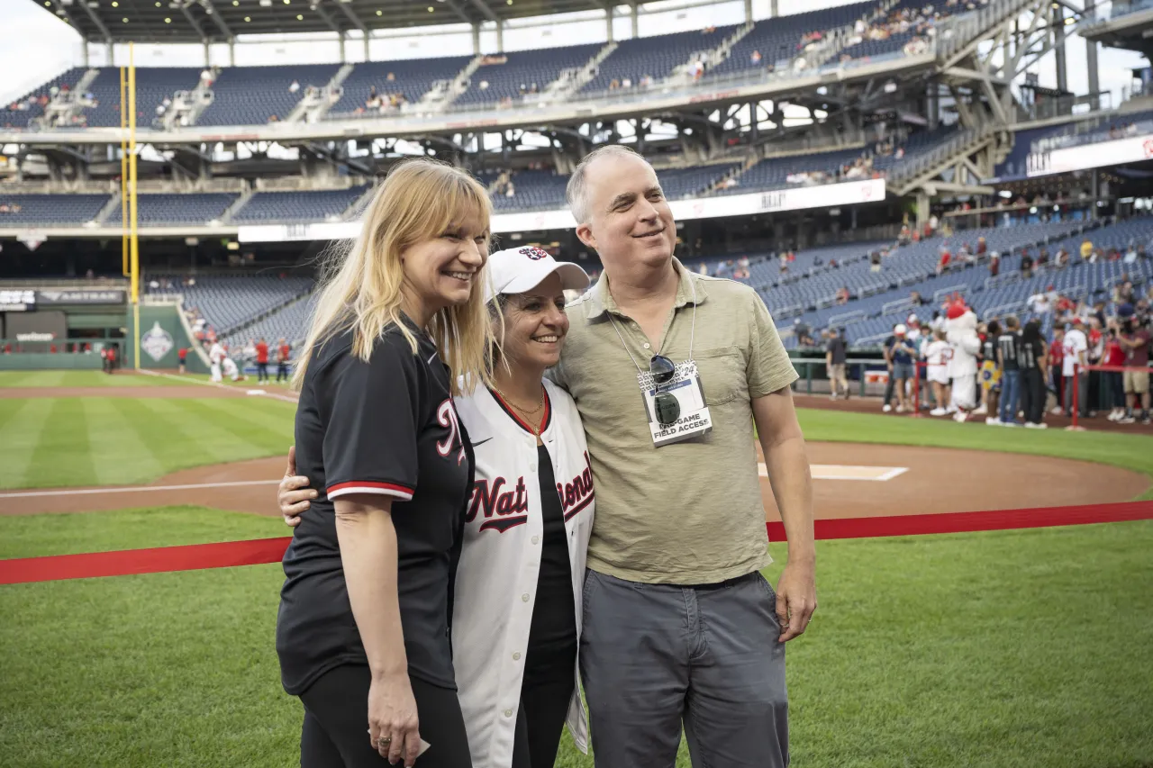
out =
[[(28, 376), (0, 374), (0, 386), (168, 381), (15, 383)], [(292, 414), (264, 398), (0, 399), (0, 487), (143, 482), (280, 455)], [(800, 417), (809, 441), (1039, 453), (1153, 476), (1151, 437)], [(0, 558), (287, 533), (198, 507), (0, 517)], [(821, 608), (789, 654), (793, 765), (1153, 766), (1151, 549), (1153, 521), (821, 542)], [(784, 547), (773, 554), (775, 582)], [(0, 766), (295, 765), (300, 706), (273, 649), (281, 579), (265, 565), (0, 587)], [(566, 736), (557, 765), (593, 761)]]

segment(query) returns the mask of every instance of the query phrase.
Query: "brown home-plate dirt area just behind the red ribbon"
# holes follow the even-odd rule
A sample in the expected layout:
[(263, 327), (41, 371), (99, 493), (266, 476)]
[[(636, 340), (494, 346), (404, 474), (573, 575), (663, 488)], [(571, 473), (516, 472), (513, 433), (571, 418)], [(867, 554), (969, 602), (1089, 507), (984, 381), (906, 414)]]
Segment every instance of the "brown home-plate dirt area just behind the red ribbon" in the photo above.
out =
[[(1126, 502), (1150, 484), (1145, 475), (1116, 467), (1015, 453), (809, 443), (808, 455), (827, 472), (839, 465), (906, 469), (887, 473), (887, 480), (814, 480), (820, 519)], [(276, 484), (284, 467), (284, 458), (272, 457), (183, 469), (131, 489), (0, 491), (0, 513), (195, 504), (276, 515)], [(766, 519), (779, 520), (768, 480), (762, 477), (761, 488)]]

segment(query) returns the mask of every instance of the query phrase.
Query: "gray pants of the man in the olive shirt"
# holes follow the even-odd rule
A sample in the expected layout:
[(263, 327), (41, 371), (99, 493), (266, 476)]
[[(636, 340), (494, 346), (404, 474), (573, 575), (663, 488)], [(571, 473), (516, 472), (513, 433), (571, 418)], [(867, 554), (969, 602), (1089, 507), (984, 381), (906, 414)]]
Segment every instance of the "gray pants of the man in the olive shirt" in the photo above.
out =
[(580, 668), (596, 768), (789, 765), (785, 647), (760, 573), (680, 587), (585, 577)]

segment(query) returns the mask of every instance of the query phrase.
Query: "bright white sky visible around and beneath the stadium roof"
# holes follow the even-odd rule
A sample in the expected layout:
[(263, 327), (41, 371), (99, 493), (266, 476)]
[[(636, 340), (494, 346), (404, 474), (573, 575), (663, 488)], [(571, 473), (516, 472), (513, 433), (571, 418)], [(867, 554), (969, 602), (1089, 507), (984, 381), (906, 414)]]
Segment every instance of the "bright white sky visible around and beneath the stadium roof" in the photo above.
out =
[[(846, 5), (850, 0), (779, 0), (781, 14), (799, 13)], [(660, 12), (661, 7), (668, 12)], [(695, 8), (684, 8), (683, 0), (665, 0), (647, 3), (646, 8), (654, 12), (640, 17), (641, 36), (662, 35), (689, 29), (700, 29), (706, 24), (730, 24), (744, 20), (744, 3), (718, 2)], [(603, 16), (576, 15), (565, 24), (549, 24), (545, 20), (519, 20), (511, 24), (504, 35), (505, 48), (508, 51), (537, 48), (552, 45), (575, 45), (594, 43), (604, 39)], [(754, 0), (754, 18), (769, 16), (769, 0)], [(46, 8), (28, 2), (28, 0), (0, 0), (0, 17), (5, 20), (3, 44), (0, 45), (0, 101), (10, 101), (32, 88), (46, 82), (53, 76), (80, 66), (83, 62), (80, 35), (68, 24), (58, 18)], [(431, 33), (434, 29), (442, 33)], [(613, 32), (618, 39), (631, 36), (630, 20), (617, 18)], [(259, 40), (240, 38), (236, 45), (238, 65), (274, 65), (338, 61), (339, 48), (334, 40), (306, 39), (303, 36), (280, 38), (277, 40)], [(482, 48), (496, 50), (495, 31), (484, 31), (481, 37)], [(472, 53), (472, 33), (467, 27), (423, 28), (420, 32), (397, 32), (389, 37), (375, 39), (371, 43), (370, 55), (374, 60), (394, 60), (435, 55), (460, 55)], [(1087, 73), (1085, 62), (1085, 42), (1080, 37), (1070, 38), (1067, 45), (1069, 86), (1075, 93), (1087, 90)], [(349, 61), (363, 60), (363, 46), (360, 42), (351, 42), (346, 46)], [(91, 45), (89, 48), (90, 65), (123, 65), (128, 62), (126, 46), (118, 46), (115, 60), (108, 61), (108, 53), (103, 45)], [(213, 46), (212, 62), (226, 65), (227, 46)], [(1120, 104), (1121, 89), (1131, 82), (1133, 67), (1147, 66), (1144, 57), (1131, 51), (1118, 51), (1102, 47), (1098, 57), (1100, 85), (1102, 90), (1113, 92), (1113, 103)], [(137, 66), (199, 67), (204, 63), (204, 48), (199, 45), (138, 45), (135, 61)], [(1037, 67), (1040, 84), (1056, 86), (1056, 68), (1053, 54), (1049, 54)]]

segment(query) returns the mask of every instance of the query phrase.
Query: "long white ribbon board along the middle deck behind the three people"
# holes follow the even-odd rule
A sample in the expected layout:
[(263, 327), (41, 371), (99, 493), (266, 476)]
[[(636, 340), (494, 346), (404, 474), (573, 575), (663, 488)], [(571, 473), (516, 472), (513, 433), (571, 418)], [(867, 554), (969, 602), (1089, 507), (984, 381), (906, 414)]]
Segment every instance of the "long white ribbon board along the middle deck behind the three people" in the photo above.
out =
[[(669, 202), (678, 221), (711, 219), (722, 216), (751, 216), (774, 211), (797, 211), (807, 208), (853, 205), (884, 199), (884, 179), (861, 179), (836, 185), (791, 187), (766, 193), (675, 199)], [(576, 226), (567, 209), (532, 213), (497, 213), (492, 232), (537, 232), (572, 229)], [(257, 225), (238, 228), (240, 242), (289, 242), (295, 240), (351, 240), (360, 234), (359, 221), (337, 224)]]

